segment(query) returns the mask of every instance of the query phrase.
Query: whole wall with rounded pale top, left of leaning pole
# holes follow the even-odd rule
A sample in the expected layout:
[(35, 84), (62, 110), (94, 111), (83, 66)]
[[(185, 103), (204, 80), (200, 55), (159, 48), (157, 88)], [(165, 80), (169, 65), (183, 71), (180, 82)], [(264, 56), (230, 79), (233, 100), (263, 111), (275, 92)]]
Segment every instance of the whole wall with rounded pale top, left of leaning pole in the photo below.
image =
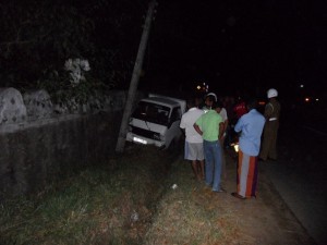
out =
[(0, 89), (0, 198), (40, 191), (59, 173), (106, 161), (114, 152), (125, 98), (125, 91), (111, 91), (101, 109), (85, 105), (72, 113), (58, 110), (46, 91)]

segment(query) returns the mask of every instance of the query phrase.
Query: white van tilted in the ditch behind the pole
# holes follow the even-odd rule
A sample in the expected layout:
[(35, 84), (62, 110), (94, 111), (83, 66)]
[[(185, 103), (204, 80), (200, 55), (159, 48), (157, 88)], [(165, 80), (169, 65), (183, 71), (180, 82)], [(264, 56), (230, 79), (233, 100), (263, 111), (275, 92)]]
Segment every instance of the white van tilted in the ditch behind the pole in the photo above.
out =
[(168, 148), (182, 135), (180, 122), (185, 109), (184, 100), (150, 94), (132, 113), (126, 140)]

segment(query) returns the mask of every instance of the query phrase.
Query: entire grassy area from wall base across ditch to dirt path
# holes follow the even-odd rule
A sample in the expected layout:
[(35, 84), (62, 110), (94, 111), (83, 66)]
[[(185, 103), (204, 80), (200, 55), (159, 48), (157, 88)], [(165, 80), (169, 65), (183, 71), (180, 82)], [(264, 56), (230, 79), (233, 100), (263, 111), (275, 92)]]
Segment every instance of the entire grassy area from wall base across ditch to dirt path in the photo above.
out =
[(175, 152), (134, 146), (38, 194), (8, 199), (0, 244), (232, 244), (238, 225), (228, 205), (191, 180)]

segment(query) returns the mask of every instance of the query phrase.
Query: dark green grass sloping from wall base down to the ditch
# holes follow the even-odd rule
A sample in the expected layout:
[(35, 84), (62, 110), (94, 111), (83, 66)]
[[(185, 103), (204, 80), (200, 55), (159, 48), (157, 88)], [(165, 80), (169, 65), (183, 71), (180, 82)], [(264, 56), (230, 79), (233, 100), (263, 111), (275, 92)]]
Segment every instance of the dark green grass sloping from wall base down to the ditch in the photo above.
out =
[(168, 173), (162, 159), (169, 161), (156, 148), (142, 150), (135, 146), (41, 193), (8, 199), (0, 244), (140, 244)]

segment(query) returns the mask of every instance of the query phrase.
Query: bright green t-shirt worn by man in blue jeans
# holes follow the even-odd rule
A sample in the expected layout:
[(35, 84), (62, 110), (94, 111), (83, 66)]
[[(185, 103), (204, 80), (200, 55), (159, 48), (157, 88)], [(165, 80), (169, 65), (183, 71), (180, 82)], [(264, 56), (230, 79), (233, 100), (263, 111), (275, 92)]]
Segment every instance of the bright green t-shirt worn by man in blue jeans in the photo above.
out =
[(216, 110), (209, 110), (207, 113), (199, 117), (195, 124), (199, 126), (203, 132), (203, 139), (208, 142), (218, 140), (219, 124), (222, 122), (222, 118)]

